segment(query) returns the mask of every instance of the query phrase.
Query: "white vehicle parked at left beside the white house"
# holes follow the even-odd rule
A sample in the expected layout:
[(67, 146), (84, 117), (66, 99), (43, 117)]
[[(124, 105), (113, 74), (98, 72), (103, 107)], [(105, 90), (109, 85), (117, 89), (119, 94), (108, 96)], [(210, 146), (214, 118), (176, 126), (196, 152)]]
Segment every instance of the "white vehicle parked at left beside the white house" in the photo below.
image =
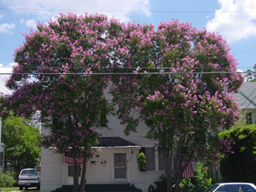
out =
[(22, 169), (18, 177), (18, 186), (20, 187), (20, 190), (22, 190), (24, 187), (26, 189), (30, 187), (37, 187), (40, 189), (39, 174), (35, 171), (35, 169), (32, 168)]

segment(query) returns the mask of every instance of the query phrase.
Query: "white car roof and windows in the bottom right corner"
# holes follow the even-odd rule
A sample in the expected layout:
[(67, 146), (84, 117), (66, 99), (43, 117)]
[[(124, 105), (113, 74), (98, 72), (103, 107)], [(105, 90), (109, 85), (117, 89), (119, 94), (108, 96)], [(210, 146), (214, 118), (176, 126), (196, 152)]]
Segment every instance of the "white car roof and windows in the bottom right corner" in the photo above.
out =
[(256, 192), (253, 183), (217, 183), (204, 192)]

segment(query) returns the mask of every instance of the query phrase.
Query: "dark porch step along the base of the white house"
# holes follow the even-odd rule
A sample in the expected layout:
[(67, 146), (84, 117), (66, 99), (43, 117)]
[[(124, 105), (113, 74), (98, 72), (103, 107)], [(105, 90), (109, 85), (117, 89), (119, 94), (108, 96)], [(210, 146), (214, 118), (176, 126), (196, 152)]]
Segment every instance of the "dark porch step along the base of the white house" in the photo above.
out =
[[(51, 192), (72, 192), (73, 185), (63, 185)], [(86, 184), (86, 192), (143, 192), (130, 184)]]

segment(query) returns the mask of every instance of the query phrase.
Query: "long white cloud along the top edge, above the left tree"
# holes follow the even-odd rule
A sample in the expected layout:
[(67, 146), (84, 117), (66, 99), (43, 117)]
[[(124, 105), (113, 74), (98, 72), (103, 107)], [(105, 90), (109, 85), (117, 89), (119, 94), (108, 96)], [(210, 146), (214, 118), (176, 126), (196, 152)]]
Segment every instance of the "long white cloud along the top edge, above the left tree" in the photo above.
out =
[[(129, 20), (131, 11), (150, 16), (149, 0), (2, 0), (2, 3), (10, 9), (15, 9), (20, 14), (38, 15), (39, 20), (49, 20), (53, 15), (67, 13), (68, 11), (83, 15), (104, 14), (122, 21)], [(19, 9), (17, 9), (19, 8)]]

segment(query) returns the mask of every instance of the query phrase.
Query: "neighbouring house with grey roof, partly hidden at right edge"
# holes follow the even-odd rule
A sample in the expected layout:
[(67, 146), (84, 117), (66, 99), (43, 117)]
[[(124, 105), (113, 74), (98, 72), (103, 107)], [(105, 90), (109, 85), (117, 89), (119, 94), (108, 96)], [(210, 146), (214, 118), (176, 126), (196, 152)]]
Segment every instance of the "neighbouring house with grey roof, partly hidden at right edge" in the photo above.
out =
[(233, 96), (241, 108), (245, 124), (256, 124), (256, 82), (244, 82)]

